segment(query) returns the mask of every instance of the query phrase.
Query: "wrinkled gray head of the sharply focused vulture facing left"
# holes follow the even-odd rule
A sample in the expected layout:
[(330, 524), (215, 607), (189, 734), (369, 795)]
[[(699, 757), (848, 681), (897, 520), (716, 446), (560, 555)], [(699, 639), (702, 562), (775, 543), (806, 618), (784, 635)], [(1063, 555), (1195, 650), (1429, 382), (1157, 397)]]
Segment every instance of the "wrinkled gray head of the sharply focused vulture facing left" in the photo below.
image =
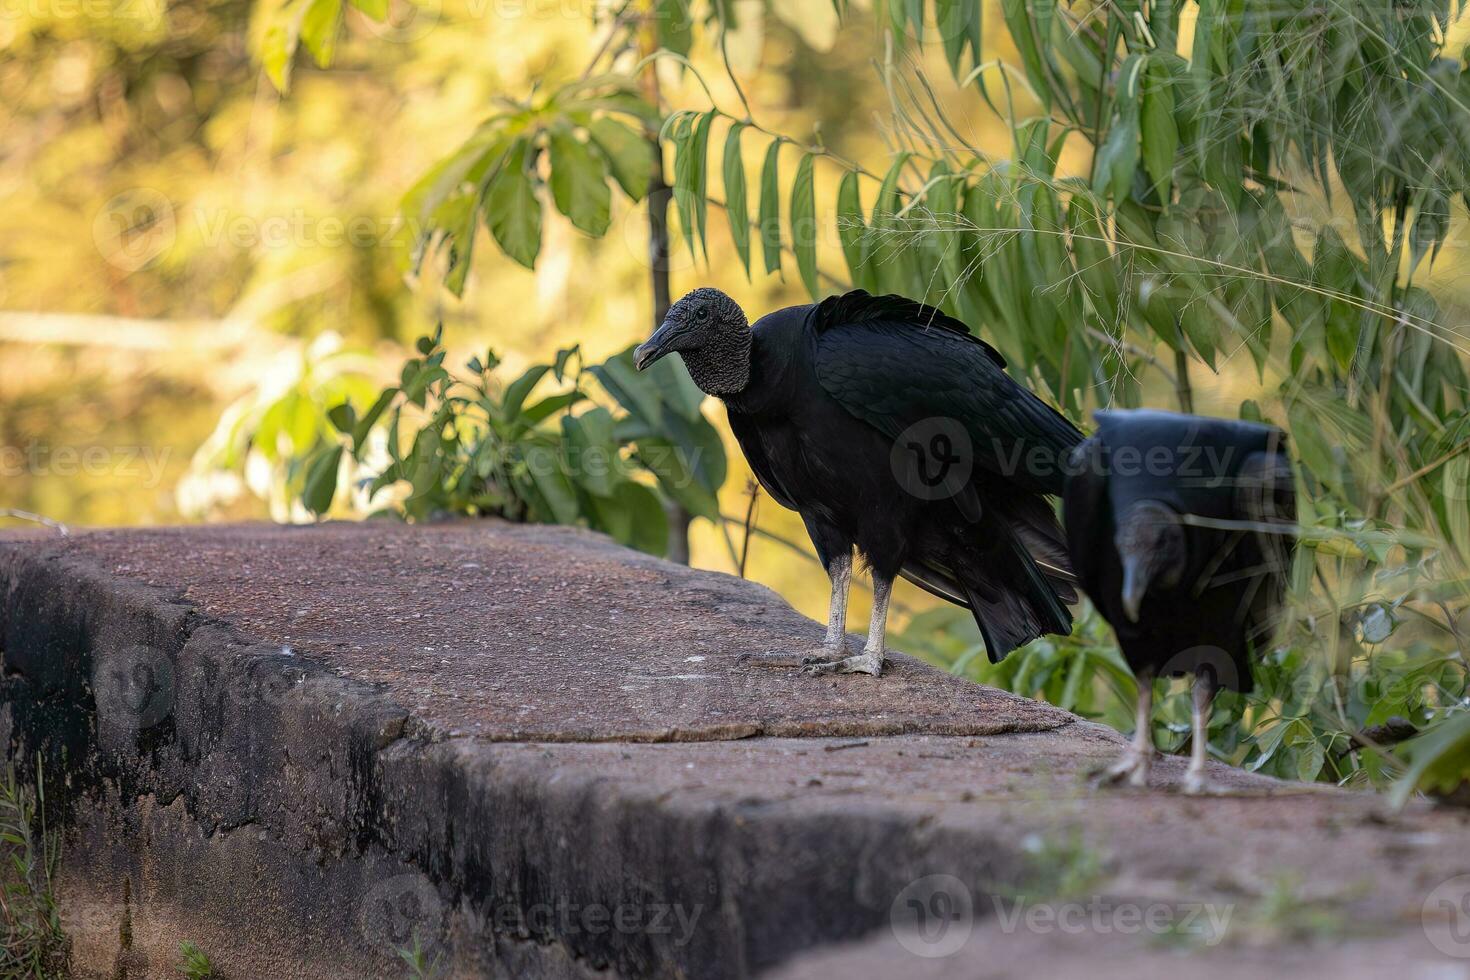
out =
[(663, 325), (637, 351), (638, 370), (679, 354), (707, 395), (734, 395), (750, 382), (750, 322), (735, 300), (703, 287), (669, 307)]

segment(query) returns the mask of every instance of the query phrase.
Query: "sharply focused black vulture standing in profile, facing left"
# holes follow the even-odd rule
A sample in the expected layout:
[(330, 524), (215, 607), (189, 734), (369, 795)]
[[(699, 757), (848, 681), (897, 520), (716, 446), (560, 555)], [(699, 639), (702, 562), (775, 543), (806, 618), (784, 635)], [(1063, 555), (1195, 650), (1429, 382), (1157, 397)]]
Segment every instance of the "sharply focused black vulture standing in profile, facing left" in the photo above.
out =
[[(669, 309), (635, 361), (672, 353), (723, 400), (760, 485), (801, 514), (832, 580), (808, 673), (882, 671), (898, 574), (970, 608), (991, 660), (1070, 632), (1075, 577), (1045, 494), (1061, 494), (1082, 433), (964, 323), (857, 289), (750, 326), (703, 288)], [(863, 652), (844, 657), (854, 548), (873, 576), (873, 617)]]

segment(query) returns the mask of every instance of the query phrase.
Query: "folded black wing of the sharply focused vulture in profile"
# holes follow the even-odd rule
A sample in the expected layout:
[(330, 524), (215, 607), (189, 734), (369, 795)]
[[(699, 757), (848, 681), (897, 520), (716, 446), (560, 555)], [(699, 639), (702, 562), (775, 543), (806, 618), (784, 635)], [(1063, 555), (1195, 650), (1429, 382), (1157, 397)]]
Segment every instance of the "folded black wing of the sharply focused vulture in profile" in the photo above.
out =
[(822, 388), (857, 419), (897, 439), (910, 426), (954, 419), (973, 463), (1033, 491), (1060, 494), (1063, 460), (1082, 433), (1016, 383), (1005, 360), (954, 317), (861, 289), (814, 313)]

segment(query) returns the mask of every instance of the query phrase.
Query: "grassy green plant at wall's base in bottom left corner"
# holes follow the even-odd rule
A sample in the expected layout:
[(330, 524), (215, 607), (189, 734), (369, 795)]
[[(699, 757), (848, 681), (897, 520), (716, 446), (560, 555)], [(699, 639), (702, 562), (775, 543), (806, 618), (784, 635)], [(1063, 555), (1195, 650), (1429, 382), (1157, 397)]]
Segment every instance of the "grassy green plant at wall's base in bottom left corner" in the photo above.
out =
[(60, 839), (47, 829), (41, 776), (37, 760), (34, 786), (15, 765), (0, 783), (0, 977), (15, 980), (66, 976), (69, 949), (53, 887)]

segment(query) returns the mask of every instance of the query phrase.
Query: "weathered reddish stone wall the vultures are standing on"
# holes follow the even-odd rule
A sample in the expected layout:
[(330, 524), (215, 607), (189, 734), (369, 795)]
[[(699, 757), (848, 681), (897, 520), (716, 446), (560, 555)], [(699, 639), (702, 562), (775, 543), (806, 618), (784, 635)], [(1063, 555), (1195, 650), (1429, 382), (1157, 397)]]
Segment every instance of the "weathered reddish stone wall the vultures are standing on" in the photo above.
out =
[(444, 977), (1470, 977), (1426, 933), (1463, 815), (1219, 765), (1235, 795), (1186, 799), (1173, 758), (1100, 793), (1116, 733), (767, 655), (819, 635), (566, 529), (7, 535), (0, 732), (65, 801), (79, 976), (190, 939), (398, 977), (417, 936)]

